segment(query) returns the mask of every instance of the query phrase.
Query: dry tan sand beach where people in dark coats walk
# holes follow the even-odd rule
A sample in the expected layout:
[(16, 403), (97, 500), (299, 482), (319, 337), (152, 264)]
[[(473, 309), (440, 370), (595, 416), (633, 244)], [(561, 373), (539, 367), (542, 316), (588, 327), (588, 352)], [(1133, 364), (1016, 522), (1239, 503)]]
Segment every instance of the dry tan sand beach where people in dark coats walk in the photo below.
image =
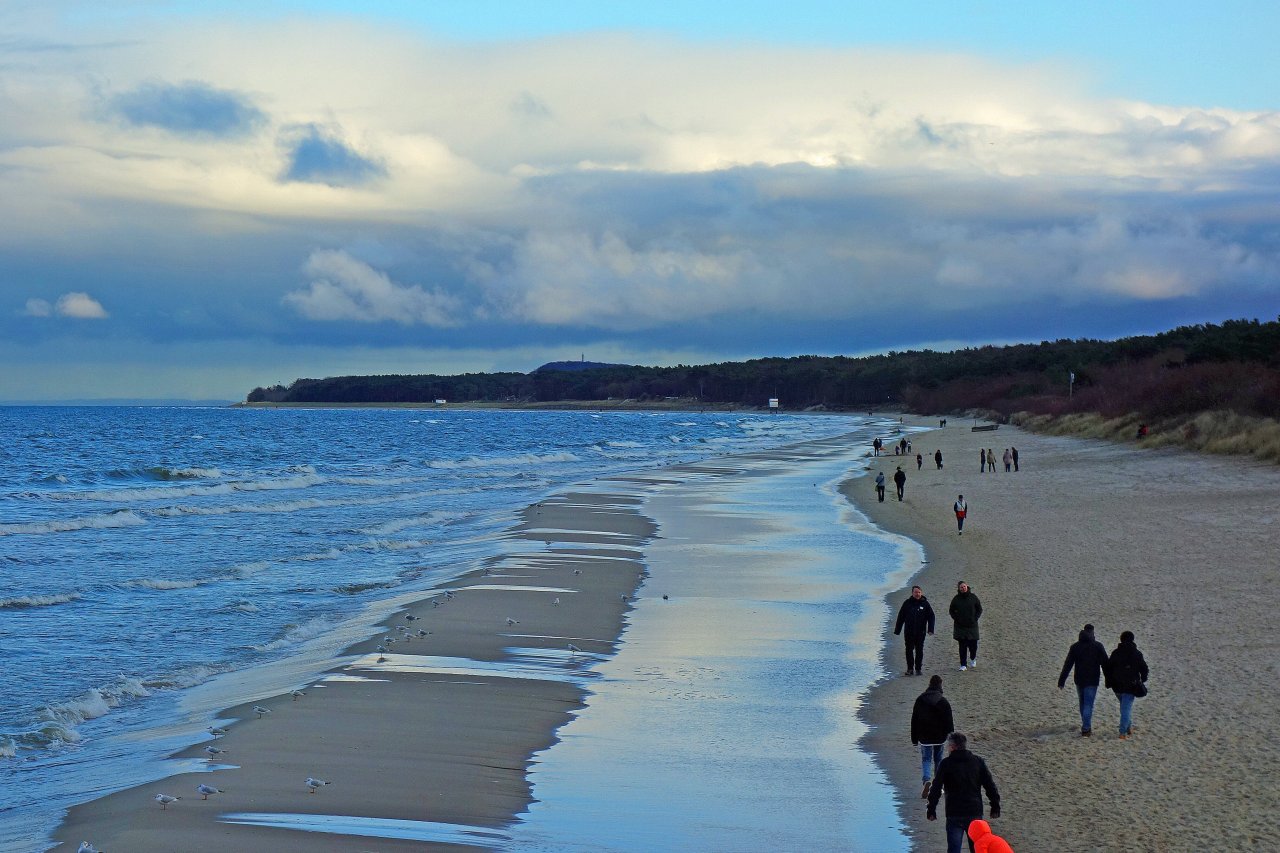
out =
[[(973, 433), (968, 421), (911, 441), (905, 502), (891, 483), (877, 503), (869, 478), (845, 489), (876, 524), (924, 546), (928, 564), (913, 583), (938, 613), (924, 675), (942, 675), (956, 726), (996, 777), (996, 831), (1019, 852), (1280, 849), (1280, 469), (1007, 426)], [(1010, 444), (1019, 473), (979, 474), (979, 447), (998, 456)], [(891, 452), (886, 478), (900, 462)], [(957, 493), (969, 502), (964, 537), (951, 512)], [(959, 580), (984, 608), (980, 663), (968, 672), (947, 616)], [(891, 620), (909, 589), (888, 597)], [(1108, 652), (1120, 631), (1134, 631), (1151, 666), (1130, 740), (1117, 736), (1111, 690), (1098, 692), (1085, 739), (1071, 679), (1057, 689), (1085, 622)], [(901, 793), (915, 849), (941, 849), (942, 822), (924, 818), (909, 738), (928, 679), (901, 675), (902, 642), (891, 631), (892, 621), (884, 666), (893, 675), (864, 707), (873, 726), (864, 745)]]

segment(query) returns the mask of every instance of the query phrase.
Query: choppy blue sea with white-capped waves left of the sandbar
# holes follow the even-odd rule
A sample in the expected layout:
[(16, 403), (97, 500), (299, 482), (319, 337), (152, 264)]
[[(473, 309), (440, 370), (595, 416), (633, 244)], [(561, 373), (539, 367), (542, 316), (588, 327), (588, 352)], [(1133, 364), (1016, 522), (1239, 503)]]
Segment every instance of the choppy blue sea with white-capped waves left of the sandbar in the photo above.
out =
[(479, 567), (566, 485), (886, 423), (0, 407), (0, 850), (47, 849), (70, 806), (188, 770), (168, 756), (205, 736), (193, 694), (321, 667), (334, 638)]

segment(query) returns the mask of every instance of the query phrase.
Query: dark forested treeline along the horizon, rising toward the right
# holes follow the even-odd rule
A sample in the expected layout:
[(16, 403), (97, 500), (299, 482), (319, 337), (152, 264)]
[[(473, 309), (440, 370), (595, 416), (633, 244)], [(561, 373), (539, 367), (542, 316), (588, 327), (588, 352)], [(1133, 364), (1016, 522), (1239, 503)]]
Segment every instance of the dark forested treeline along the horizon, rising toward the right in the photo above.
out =
[[(550, 368), (550, 365), (548, 365)], [(1075, 374), (1074, 387), (1069, 375)], [(1060, 339), (954, 352), (796, 356), (673, 368), (298, 379), (248, 402), (404, 403), (690, 398), (707, 403), (1011, 414), (1235, 409), (1280, 415), (1280, 321), (1229, 320), (1119, 341)]]

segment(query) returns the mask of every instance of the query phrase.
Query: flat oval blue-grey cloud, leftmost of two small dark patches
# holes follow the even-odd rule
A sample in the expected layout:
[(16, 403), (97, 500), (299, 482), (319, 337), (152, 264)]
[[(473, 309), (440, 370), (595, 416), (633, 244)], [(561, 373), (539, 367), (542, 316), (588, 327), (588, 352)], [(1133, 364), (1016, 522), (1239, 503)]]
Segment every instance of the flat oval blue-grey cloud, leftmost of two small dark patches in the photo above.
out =
[(136, 127), (179, 136), (247, 136), (266, 122), (247, 96), (197, 81), (143, 83), (111, 97), (110, 110)]

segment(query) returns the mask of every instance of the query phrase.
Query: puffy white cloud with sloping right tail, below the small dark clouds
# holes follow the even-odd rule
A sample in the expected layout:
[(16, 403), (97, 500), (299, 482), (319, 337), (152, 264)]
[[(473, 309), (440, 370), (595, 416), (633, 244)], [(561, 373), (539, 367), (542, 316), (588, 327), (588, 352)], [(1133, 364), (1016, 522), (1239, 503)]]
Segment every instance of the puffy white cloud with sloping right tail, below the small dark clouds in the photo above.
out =
[(401, 325), (449, 327), (461, 302), (438, 289), (393, 282), (347, 252), (311, 254), (303, 272), (311, 283), (287, 293), (284, 302), (308, 320), (394, 321)]

